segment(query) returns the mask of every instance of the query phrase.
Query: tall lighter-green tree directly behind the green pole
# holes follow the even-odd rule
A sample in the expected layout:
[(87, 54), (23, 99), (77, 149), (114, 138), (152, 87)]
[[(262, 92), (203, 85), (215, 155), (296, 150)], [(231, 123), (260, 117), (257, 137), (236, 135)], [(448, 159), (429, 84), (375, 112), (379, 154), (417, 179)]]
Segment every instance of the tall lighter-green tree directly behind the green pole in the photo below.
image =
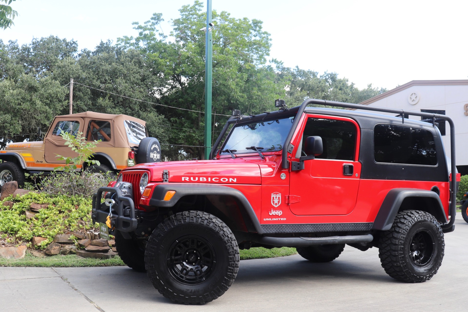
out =
[[(159, 103), (185, 109), (157, 107), (158, 112), (178, 128), (190, 132), (171, 131), (174, 144), (203, 145), (203, 114), (205, 90), (205, 26), (203, 4), (195, 1), (180, 10), (180, 17), (172, 20), (173, 31), (168, 40), (158, 31), (163, 21), (154, 14), (144, 24), (135, 23), (137, 37), (123, 37), (118, 44), (126, 49), (138, 49), (152, 64), (153, 70), (166, 78), (159, 89)], [(273, 67), (266, 66), (271, 47), (270, 34), (262, 29), (262, 22), (247, 18), (235, 19), (229, 13), (213, 11), (213, 112), (228, 114), (232, 109), (258, 112), (273, 108), (273, 100), (285, 95), (283, 85), (276, 83)], [(224, 123), (226, 117), (216, 116)], [(211, 125), (213, 127), (213, 125)], [(215, 133), (216, 135), (216, 133)], [(203, 157), (203, 148), (185, 147), (188, 157)], [(178, 147), (173, 149), (178, 153)]]

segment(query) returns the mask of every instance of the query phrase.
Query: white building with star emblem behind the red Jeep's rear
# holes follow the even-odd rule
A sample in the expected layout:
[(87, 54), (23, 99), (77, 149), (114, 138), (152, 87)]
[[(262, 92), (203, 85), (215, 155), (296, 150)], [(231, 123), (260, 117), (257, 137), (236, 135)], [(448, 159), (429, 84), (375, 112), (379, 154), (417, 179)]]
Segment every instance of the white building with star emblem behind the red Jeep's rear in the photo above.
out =
[[(448, 115), (455, 124), (457, 169), (468, 174), (468, 80), (413, 80), (360, 104)], [(450, 156), (450, 126), (441, 122), (439, 130)]]

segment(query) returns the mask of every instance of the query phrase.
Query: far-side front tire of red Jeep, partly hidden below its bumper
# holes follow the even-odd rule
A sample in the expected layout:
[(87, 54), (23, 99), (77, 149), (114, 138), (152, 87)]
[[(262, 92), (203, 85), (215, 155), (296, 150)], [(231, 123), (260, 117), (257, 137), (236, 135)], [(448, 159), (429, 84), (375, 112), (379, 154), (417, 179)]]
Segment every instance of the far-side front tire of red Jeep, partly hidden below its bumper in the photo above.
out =
[(139, 242), (134, 239), (125, 239), (120, 231), (116, 231), (115, 241), (120, 259), (135, 271), (146, 272), (145, 250)]

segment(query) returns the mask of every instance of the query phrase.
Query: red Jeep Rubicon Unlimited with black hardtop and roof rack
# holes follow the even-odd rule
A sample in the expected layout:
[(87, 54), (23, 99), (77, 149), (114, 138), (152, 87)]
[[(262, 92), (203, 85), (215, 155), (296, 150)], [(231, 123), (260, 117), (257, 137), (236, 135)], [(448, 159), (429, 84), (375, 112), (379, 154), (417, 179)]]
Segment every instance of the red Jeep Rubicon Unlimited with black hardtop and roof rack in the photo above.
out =
[[(296, 247), (312, 262), (334, 260), (345, 245), (378, 247), (391, 277), (431, 279), (454, 229), (453, 121), (313, 99), (276, 106), (234, 111), (211, 160), (138, 164), (99, 189), (93, 221), (109, 217), (125, 264), (184, 304), (221, 296), (237, 275), (239, 249), (257, 246)], [(450, 165), (436, 119), (450, 124)]]

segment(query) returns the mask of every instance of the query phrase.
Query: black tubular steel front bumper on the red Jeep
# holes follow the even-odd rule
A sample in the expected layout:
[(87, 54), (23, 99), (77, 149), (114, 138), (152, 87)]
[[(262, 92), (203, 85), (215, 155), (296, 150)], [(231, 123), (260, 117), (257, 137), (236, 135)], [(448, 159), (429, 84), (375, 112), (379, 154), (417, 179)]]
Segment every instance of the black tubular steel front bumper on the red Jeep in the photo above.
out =
[[(102, 193), (116, 193), (113, 196), (115, 204), (109, 208), (104, 203), (101, 203)], [(97, 193), (93, 195), (93, 208), (91, 210), (91, 219), (93, 224), (106, 223), (109, 209), (112, 209), (110, 234), (114, 230), (122, 232), (132, 232), (138, 226), (138, 220), (135, 218), (135, 204), (132, 198), (125, 197), (122, 191), (117, 187), (104, 186), (100, 187)]]

